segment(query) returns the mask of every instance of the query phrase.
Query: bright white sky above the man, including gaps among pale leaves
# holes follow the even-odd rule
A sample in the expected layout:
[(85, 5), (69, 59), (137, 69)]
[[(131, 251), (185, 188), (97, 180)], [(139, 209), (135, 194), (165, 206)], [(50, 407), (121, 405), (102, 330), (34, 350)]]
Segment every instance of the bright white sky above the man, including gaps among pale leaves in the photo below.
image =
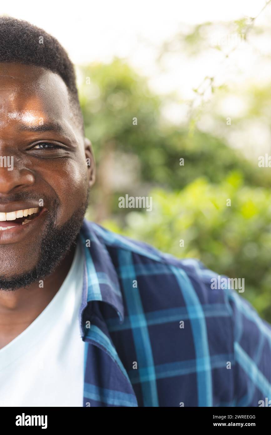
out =
[[(271, 59), (270, 37), (254, 38), (252, 44), (250, 41), (238, 48), (230, 56), (228, 66), (223, 55), (213, 49), (191, 58), (181, 51), (167, 57), (161, 70), (155, 62), (161, 44), (189, 24), (255, 17), (265, 3), (265, 0), (12, 0), (1, 3), (0, 13), (30, 21), (51, 33), (66, 48), (75, 64), (97, 60), (110, 62), (114, 56), (126, 57), (140, 74), (149, 77), (153, 90), (160, 94), (172, 92), (181, 99), (190, 100), (195, 97), (192, 89), (198, 87), (205, 76), (215, 76), (221, 84), (233, 83), (240, 88), (244, 83), (256, 80), (269, 83), (271, 61), (268, 64), (268, 56), (264, 59), (262, 54), (268, 54)], [(257, 24), (269, 29), (270, 19), (271, 5), (268, 5)], [(240, 115), (244, 104), (229, 96), (228, 101), (221, 104), (221, 110), (225, 116), (234, 116), (236, 111), (236, 115)], [(178, 102), (170, 102), (164, 110), (169, 122), (177, 124), (187, 122), (187, 113), (185, 104)], [(249, 130), (252, 127), (256, 128), (254, 134)], [(266, 149), (270, 147), (271, 136), (269, 131), (264, 136), (263, 127), (251, 124), (245, 129), (248, 137), (229, 140), (233, 146), (239, 144), (244, 149), (249, 146), (254, 149), (255, 142), (260, 145), (261, 138), (262, 147)], [(216, 128), (216, 125), (212, 126), (211, 118), (209, 123), (202, 120), (202, 129), (216, 131)], [(244, 132), (240, 134), (244, 136)]]

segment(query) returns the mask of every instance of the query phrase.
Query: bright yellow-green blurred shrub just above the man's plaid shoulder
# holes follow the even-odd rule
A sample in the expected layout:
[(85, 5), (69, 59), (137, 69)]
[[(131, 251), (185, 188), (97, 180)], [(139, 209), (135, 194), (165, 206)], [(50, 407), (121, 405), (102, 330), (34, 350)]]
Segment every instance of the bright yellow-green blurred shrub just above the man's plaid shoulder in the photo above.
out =
[(105, 226), (178, 258), (198, 258), (218, 274), (245, 278), (241, 295), (271, 321), (270, 191), (245, 186), (233, 172), (221, 184), (198, 178), (181, 191), (150, 195), (152, 212), (130, 211), (124, 227)]

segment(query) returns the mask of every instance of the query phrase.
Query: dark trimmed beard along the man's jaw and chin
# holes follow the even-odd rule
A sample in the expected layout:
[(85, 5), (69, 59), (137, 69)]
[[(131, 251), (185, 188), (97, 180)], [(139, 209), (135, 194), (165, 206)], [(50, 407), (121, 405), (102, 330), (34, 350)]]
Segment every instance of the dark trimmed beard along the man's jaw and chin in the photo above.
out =
[(50, 215), (40, 245), (40, 259), (36, 266), (18, 276), (0, 275), (1, 290), (17, 290), (26, 288), (35, 281), (50, 275), (59, 262), (65, 257), (73, 245), (83, 224), (89, 202), (89, 191), (86, 203), (83, 204), (62, 227), (56, 227), (56, 212)]

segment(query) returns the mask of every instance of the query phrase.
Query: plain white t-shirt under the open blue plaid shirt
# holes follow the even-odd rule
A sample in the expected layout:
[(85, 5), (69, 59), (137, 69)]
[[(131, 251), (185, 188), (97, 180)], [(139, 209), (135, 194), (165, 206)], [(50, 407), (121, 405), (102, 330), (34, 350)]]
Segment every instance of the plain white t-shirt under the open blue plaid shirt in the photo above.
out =
[(0, 406), (83, 406), (81, 250), (77, 244), (71, 268), (52, 301), (0, 349)]

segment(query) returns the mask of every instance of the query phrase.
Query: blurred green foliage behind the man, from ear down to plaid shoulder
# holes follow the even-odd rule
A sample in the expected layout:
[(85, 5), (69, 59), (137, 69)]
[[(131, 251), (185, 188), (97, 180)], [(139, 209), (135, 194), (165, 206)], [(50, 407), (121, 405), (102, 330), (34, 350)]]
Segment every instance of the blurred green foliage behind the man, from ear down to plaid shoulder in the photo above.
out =
[[(87, 217), (176, 257), (198, 258), (219, 274), (245, 278), (242, 296), (271, 321), (268, 168), (251, 164), (220, 137), (165, 123), (163, 98), (122, 60), (83, 67), (82, 77), (86, 136), (99, 168)], [(110, 173), (120, 155), (140, 162), (129, 189), (129, 183), (116, 187), (119, 174)], [(152, 196), (152, 212), (120, 209), (125, 194)]]

